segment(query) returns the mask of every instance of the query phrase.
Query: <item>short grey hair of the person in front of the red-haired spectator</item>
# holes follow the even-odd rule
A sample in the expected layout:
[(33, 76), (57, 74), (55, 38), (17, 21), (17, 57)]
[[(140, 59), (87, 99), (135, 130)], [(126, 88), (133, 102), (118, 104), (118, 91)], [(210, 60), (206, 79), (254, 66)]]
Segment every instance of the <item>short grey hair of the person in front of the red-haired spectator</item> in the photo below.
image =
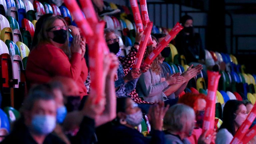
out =
[(164, 116), (165, 130), (172, 132), (181, 132), (184, 124), (191, 121), (191, 117), (195, 115), (194, 110), (184, 104), (176, 104), (168, 109)]

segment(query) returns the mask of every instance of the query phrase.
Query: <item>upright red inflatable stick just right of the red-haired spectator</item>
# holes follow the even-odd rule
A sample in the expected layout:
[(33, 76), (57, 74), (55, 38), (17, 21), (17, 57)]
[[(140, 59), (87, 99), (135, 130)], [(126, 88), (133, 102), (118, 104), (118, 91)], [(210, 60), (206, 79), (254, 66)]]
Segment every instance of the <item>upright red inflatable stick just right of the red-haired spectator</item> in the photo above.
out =
[(218, 88), (218, 83), (220, 79), (219, 72), (207, 71), (208, 75), (208, 94), (206, 97), (206, 108), (204, 114), (203, 122), (203, 132), (208, 131), (206, 135), (212, 134), (214, 132), (215, 124), (215, 100), (216, 91)]

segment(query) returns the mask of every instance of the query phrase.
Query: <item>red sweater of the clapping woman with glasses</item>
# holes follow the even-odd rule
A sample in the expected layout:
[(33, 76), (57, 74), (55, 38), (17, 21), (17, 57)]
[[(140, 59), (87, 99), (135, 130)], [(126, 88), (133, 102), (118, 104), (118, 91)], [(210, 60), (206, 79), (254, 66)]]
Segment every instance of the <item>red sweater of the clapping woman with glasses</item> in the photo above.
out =
[(27, 60), (26, 77), (33, 84), (48, 82), (54, 76), (65, 76), (75, 80), (80, 96), (87, 95), (84, 85), (88, 75), (85, 59), (73, 53), (71, 59), (52, 44), (40, 44), (31, 51)]

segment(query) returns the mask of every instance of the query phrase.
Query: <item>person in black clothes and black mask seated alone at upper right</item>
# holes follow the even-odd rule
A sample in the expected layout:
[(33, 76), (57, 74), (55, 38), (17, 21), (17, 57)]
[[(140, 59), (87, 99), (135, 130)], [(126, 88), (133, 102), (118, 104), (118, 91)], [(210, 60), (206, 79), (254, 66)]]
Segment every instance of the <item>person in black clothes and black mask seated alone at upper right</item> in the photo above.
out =
[(202, 40), (199, 33), (195, 33), (193, 29), (193, 18), (189, 15), (181, 17), (180, 23), (184, 26), (184, 29), (174, 39), (174, 45), (176, 46), (178, 53), (186, 57), (186, 61), (189, 65), (194, 66), (202, 64), (204, 70), (206, 65), (214, 65), (212, 63), (206, 63), (205, 50), (202, 46)]

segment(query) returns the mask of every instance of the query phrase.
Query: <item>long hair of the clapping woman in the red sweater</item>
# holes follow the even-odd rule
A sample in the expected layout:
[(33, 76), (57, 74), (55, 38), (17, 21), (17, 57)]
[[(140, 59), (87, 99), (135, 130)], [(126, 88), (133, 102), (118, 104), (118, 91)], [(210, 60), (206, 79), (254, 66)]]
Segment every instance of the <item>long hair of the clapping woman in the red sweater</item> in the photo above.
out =
[[(41, 28), (36, 27), (36, 30), (39, 32), (36, 36), (34, 36), (33, 41), (35, 41), (35, 43), (34, 43), (32, 49), (36, 48), (39, 44), (51, 43), (50, 38), (47, 35), (47, 32), (48, 32), (49, 28), (53, 27), (53, 23), (57, 19), (62, 20), (63, 23), (65, 24), (65, 26), (67, 27), (66, 21), (61, 16), (50, 16), (50, 17), (45, 18), (45, 20), (43, 21), (42, 27)], [(40, 30), (38, 30), (38, 29), (40, 29)], [(67, 35), (68, 35), (68, 32), (67, 32)], [(66, 42), (60, 48), (64, 51), (64, 53), (69, 58), (71, 58), (70, 48), (68, 47), (68, 43), (69, 43), (68, 39), (69, 39), (69, 37), (67, 37)]]

